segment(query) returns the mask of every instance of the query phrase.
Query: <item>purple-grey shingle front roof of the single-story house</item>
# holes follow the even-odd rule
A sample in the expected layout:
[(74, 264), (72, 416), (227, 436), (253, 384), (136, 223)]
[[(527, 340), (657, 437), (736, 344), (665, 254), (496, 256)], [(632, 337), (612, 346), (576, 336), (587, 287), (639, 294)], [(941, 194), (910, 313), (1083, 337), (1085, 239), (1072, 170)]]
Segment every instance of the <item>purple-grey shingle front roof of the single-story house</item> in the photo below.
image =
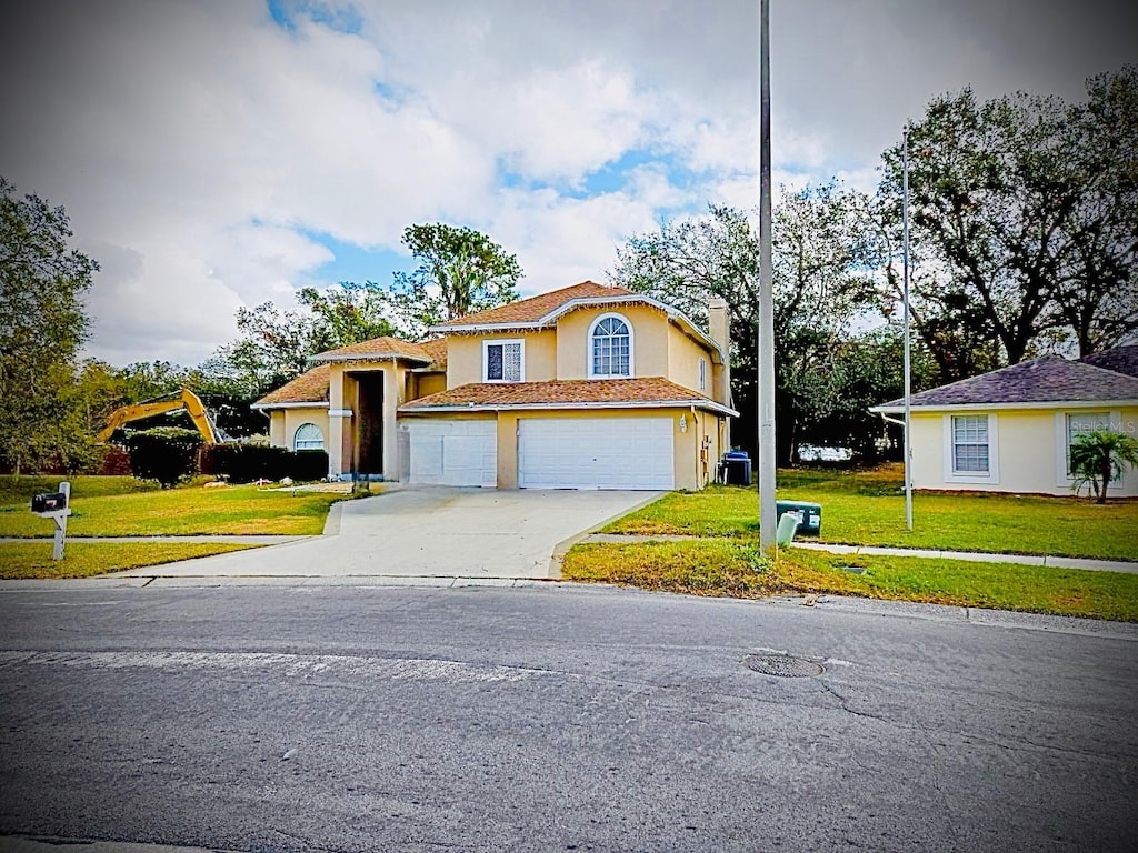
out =
[[(1138, 378), (1073, 362), (1041, 356), (972, 379), (915, 394), (914, 408), (951, 408), (978, 405), (1034, 403), (1108, 403), (1138, 400)], [(904, 398), (874, 406), (872, 412), (896, 412)]]

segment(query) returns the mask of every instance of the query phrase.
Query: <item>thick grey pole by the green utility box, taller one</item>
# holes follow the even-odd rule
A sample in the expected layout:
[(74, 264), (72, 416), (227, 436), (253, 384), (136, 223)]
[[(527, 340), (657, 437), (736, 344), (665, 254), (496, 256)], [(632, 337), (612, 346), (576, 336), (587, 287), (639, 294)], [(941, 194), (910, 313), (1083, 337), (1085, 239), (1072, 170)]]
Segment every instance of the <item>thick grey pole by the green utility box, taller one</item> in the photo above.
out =
[(770, 276), (770, 1), (760, 1), (759, 59), (759, 547), (777, 546), (775, 517), (775, 307)]

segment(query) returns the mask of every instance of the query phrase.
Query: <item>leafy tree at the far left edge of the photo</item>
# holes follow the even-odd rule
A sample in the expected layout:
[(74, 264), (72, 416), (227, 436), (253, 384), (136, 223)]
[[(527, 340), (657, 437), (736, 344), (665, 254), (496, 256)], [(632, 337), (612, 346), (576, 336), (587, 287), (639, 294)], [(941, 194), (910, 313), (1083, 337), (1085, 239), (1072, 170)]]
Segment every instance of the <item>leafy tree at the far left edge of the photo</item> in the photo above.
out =
[(88, 440), (67, 392), (88, 336), (82, 295), (99, 265), (71, 248), (63, 207), (15, 193), (0, 177), (0, 459), (19, 473)]

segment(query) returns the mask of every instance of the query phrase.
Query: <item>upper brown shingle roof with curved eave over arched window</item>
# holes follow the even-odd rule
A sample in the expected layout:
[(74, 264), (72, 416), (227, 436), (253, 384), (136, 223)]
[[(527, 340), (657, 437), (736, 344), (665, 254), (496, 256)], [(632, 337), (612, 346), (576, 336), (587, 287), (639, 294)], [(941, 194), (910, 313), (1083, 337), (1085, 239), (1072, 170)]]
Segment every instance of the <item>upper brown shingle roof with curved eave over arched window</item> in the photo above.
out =
[(583, 281), (549, 293), (541, 293), (517, 303), (487, 308), (464, 317), (439, 323), (432, 331), (444, 334), (478, 333), (495, 331), (512, 331), (525, 329), (547, 329), (558, 320), (577, 308), (595, 308), (621, 305), (649, 305), (663, 312), (668, 320), (679, 326), (690, 337), (704, 345), (717, 363), (725, 357), (724, 349), (703, 332), (686, 315), (676, 308), (661, 303), (645, 293), (637, 293), (627, 288), (608, 287), (595, 281)]

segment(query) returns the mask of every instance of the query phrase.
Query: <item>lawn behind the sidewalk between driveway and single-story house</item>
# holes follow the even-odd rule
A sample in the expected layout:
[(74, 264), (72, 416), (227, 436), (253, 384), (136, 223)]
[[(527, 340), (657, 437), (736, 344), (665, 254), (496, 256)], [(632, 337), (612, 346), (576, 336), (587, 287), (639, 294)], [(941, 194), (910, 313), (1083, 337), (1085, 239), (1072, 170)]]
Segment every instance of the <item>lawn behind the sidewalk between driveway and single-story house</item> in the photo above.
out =
[[(917, 492), (909, 531), (898, 466), (780, 472), (778, 499), (822, 504), (824, 543), (1138, 560), (1135, 500), (1099, 506), (1075, 497)], [(758, 527), (753, 489), (712, 486), (668, 495), (604, 532), (747, 538)]]

